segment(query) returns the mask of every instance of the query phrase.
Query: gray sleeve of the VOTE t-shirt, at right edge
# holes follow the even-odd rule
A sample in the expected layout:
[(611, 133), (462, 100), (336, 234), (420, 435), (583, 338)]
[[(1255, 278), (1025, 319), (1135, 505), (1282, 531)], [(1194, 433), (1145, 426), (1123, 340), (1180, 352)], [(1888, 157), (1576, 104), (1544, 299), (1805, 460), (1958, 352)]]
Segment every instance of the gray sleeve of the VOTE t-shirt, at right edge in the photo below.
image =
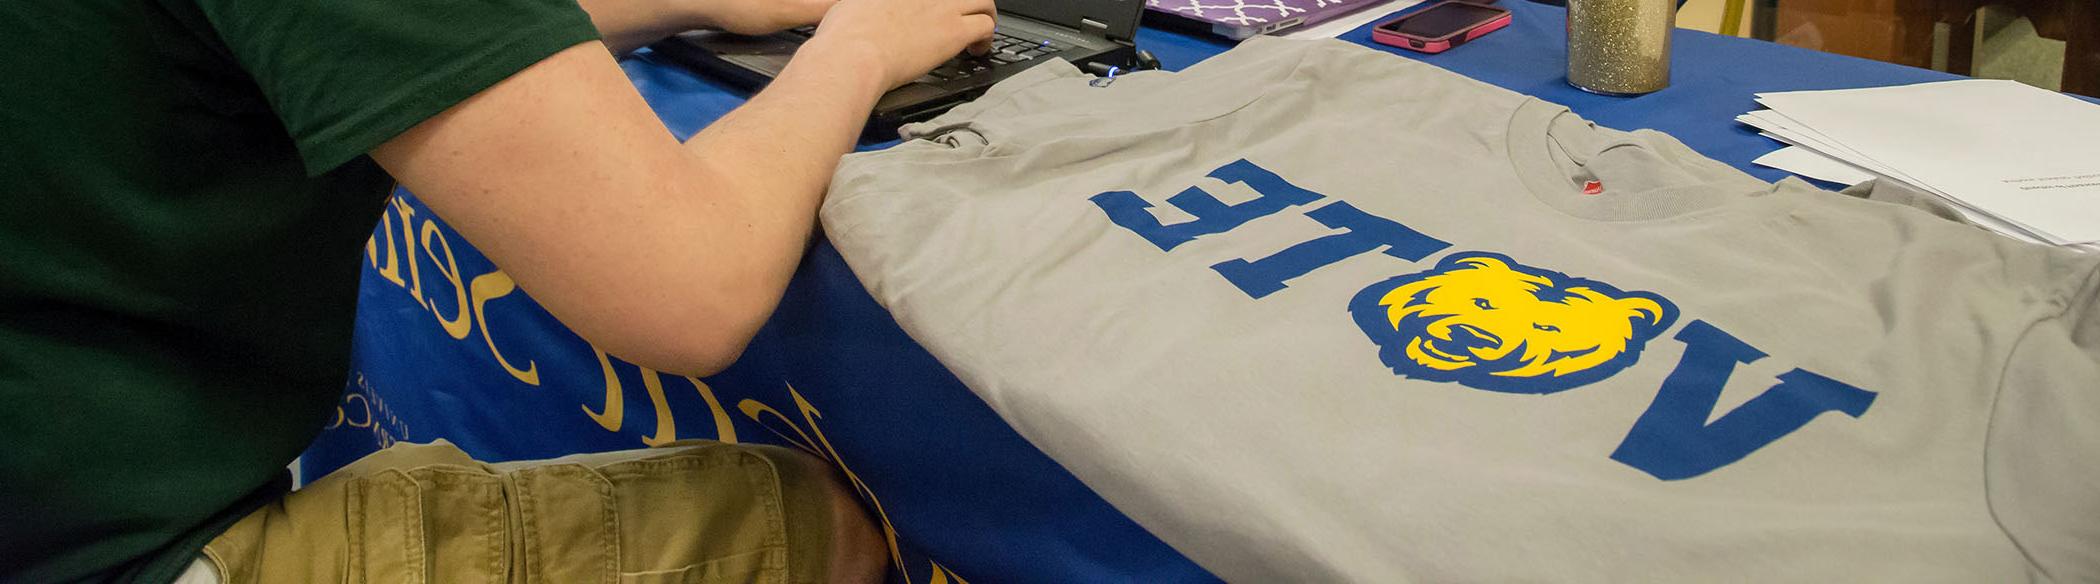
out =
[(2100, 582), (2100, 271), (2014, 345), (1984, 492), (2043, 580)]

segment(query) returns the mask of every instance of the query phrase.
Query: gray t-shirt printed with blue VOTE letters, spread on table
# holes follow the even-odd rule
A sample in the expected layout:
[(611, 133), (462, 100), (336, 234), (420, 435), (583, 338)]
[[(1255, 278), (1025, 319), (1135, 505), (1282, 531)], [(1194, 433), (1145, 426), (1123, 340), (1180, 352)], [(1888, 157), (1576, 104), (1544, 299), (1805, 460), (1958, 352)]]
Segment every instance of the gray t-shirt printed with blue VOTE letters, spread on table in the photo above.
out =
[(1226, 580), (2100, 580), (2100, 256), (1342, 42), (905, 132), (846, 263)]

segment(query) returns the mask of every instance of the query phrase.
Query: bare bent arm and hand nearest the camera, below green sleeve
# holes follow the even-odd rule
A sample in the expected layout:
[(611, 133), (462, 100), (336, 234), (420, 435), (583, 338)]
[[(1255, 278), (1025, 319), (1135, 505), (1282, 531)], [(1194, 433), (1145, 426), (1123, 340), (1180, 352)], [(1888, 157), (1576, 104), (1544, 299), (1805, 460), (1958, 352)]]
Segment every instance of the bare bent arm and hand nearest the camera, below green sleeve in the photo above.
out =
[(372, 155), (584, 338), (712, 374), (779, 303), (874, 101), (987, 38), (991, 11), (844, 0), (779, 80), (685, 145), (590, 42)]

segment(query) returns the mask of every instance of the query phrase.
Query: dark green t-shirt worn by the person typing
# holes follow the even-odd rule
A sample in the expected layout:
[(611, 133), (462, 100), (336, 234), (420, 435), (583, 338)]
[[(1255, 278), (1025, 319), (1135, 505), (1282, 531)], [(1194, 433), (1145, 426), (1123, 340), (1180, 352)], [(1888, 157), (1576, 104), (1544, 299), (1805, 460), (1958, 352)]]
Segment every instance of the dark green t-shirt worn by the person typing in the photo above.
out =
[(575, 0), (0, 2), (0, 582), (166, 582), (342, 393), (365, 151)]

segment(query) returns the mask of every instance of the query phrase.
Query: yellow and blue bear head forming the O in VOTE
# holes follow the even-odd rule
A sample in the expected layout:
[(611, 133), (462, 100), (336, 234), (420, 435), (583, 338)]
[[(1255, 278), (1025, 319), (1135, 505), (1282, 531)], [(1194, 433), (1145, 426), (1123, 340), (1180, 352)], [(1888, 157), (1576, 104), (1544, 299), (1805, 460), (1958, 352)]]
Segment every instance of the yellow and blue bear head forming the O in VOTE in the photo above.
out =
[(1502, 393), (1609, 378), (1676, 319), (1661, 296), (1485, 252), (1365, 288), (1350, 313), (1396, 374)]

